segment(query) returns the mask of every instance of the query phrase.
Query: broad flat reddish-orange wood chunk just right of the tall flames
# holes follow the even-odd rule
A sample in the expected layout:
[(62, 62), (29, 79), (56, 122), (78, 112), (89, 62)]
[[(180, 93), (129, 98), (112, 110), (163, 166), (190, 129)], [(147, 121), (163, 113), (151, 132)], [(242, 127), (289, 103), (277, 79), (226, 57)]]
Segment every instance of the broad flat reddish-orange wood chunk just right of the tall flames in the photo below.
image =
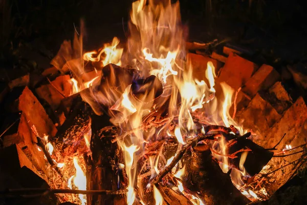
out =
[(221, 69), (217, 81), (224, 81), (234, 90), (237, 90), (247, 83), (257, 69), (258, 67), (251, 61), (234, 53), (230, 53), (224, 67)]

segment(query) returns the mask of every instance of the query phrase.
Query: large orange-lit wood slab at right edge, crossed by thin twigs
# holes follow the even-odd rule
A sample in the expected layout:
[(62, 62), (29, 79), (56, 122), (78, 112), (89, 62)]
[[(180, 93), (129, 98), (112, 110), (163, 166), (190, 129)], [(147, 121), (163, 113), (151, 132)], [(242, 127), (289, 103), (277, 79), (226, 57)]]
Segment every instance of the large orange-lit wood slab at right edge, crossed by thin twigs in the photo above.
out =
[[(284, 113), (281, 119), (273, 126), (273, 128), (266, 134), (266, 137), (259, 137), (257, 141), (261, 146), (273, 148), (278, 143), (282, 135), (286, 133), (280, 144), (276, 147), (276, 152), (282, 152), (282, 150), (286, 148), (286, 145), (296, 147), (305, 144), (307, 133), (306, 127), (307, 106), (303, 98), (299, 97), (296, 102)], [(293, 152), (300, 150), (301, 148), (294, 150)], [(262, 183), (261, 185), (265, 187), (269, 196), (295, 174), (296, 163), (292, 163), (287, 167), (283, 166), (285, 166), (287, 163), (298, 160), (301, 155), (302, 153), (298, 153), (284, 158), (272, 158), (272, 160), (269, 162), (271, 168), (268, 171), (270, 172), (279, 168), (281, 169), (267, 176), (266, 183)]]

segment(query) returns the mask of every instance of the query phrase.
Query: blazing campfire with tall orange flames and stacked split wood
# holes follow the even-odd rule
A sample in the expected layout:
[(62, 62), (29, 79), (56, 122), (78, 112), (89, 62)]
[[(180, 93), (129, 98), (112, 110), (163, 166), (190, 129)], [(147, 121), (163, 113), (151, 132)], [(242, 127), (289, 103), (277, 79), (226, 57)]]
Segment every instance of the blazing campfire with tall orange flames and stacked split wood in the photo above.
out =
[(94, 51), (83, 50), (81, 23), (44, 85), (10, 84), (0, 164), (40, 186), (20, 183), (2, 197), (247, 204), (297, 173), (306, 159), (302, 97), (293, 100), (273, 67), (243, 51), (195, 54), (216, 41), (187, 42), (179, 6), (134, 2), (127, 42), (114, 37)]

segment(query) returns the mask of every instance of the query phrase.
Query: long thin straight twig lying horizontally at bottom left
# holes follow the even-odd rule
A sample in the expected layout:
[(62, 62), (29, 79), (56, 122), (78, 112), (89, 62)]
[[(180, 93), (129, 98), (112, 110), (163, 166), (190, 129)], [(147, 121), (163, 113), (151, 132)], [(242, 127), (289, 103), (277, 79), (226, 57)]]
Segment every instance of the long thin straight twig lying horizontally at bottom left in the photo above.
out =
[(86, 194), (86, 195), (119, 195), (127, 193), (126, 189), (117, 191), (111, 190), (72, 190), (72, 189), (43, 189), (43, 188), (25, 188), (25, 189), (8, 189), (0, 192), (0, 197), (6, 195), (27, 195), (31, 193), (42, 194)]

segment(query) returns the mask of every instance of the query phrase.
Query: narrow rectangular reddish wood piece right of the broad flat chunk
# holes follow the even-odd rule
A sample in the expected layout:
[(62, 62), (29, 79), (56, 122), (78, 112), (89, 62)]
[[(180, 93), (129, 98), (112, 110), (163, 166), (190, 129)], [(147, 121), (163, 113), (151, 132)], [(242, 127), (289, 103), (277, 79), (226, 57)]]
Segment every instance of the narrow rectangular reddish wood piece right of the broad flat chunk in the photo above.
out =
[(279, 73), (272, 66), (264, 64), (252, 75), (242, 90), (254, 97), (259, 90), (273, 86), (279, 78)]

